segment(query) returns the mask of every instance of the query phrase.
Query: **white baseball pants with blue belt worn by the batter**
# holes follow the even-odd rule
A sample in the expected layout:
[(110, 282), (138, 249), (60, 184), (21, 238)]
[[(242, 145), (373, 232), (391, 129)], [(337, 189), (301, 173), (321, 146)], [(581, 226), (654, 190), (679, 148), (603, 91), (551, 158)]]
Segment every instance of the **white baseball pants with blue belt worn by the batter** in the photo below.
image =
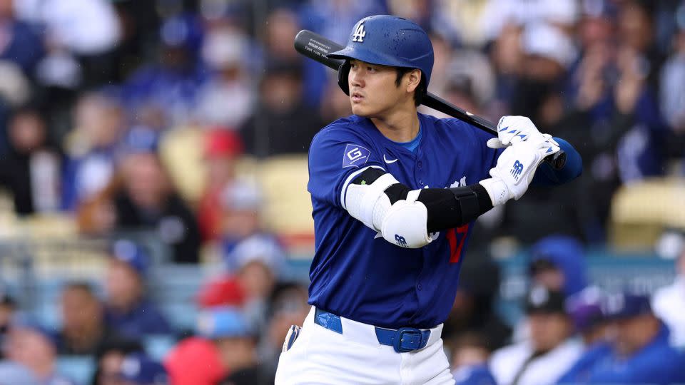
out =
[(276, 385), (455, 384), (442, 350), (442, 324), (423, 349), (397, 353), (381, 345), (372, 325), (342, 318), (342, 334), (314, 323), (312, 307), (298, 339), (280, 354)]

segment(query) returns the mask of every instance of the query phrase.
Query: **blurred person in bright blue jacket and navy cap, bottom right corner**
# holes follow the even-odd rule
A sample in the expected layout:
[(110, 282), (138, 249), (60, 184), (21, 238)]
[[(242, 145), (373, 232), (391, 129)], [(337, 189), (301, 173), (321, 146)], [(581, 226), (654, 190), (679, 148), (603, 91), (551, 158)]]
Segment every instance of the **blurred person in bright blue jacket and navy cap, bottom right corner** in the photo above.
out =
[(604, 308), (614, 321), (614, 339), (590, 348), (559, 384), (685, 382), (685, 356), (669, 345), (669, 329), (652, 313), (649, 297), (608, 296)]

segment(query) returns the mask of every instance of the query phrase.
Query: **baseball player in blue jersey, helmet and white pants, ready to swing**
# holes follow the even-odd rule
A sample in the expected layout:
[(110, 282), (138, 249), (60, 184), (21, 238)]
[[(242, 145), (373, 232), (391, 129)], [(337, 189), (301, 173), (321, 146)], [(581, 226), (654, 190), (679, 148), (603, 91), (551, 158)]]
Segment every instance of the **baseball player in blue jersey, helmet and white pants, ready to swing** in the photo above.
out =
[[(330, 57), (345, 59), (354, 115), (310, 145), (312, 309), (290, 328), (275, 382), (454, 384), (440, 332), (473, 222), (531, 182), (576, 178), (581, 160), (528, 118), (505, 116), (492, 138), (417, 113), (433, 50), (412, 21), (362, 19)], [(563, 165), (543, 163), (559, 150)]]

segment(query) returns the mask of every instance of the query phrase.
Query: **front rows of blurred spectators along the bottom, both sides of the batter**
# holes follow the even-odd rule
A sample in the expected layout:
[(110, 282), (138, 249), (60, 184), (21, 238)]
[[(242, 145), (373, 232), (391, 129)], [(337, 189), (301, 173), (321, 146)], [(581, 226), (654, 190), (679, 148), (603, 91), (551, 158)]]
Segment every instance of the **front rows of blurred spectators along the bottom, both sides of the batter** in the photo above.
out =
[[(524, 264), (524, 315), (513, 323), (496, 307), (499, 265), (467, 258), (442, 329), (457, 384), (685, 383), (685, 236), (679, 242), (675, 279), (650, 295), (602, 289), (582, 242), (544, 237)], [(112, 243), (103, 282), (62, 285), (58, 327), (0, 292), (0, 384), (273, 384), (290, 325), (310, 307), (305, 285), (279, 279), (283, 261), (267, 255), (241, 253), (193, 293), (190, 329), (151, 299), (148, 255), (130, 240)], [(68, 366), (79, 357), (81, 382)]]

